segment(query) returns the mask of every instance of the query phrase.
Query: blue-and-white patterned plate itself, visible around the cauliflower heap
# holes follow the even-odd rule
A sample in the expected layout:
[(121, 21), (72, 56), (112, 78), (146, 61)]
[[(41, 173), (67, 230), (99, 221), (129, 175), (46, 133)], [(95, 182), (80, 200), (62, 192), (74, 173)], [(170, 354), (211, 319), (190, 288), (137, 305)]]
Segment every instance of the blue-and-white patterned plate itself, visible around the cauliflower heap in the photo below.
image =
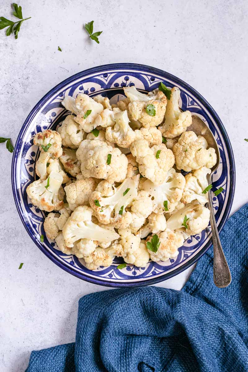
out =
[[(17, 210), (22, 222), (36, 246), (59, 267), (88, 282), (112, 286), (141, 286), (160, 282), (182, 272), (198, 260), (212, 244), (210, 226), (184, 242), (176, 259), (167, 262), (149, 262), (146, 267), (128, 264), (125, 269), (117, 269), (122, 262), (116, 259), (109, 267), (88, 270), (81, 259), (66, 255), (57, 249), (44, 231), (44, 211), (30, 203), (26, 188), (36, 178), (35, 162), (39, 156), (38, 147), (33, 145), (33, 137), (45, 129), (56, 129), (64, 119), (66, 110), (61, 105), (65, 96), (76, 97), (78, 93), (95, 96), (103, 94), (111, 103), (123, 97), (123, 87), (135, 85), (144, 92), (157, 88), (160, 81), (166, 86), (178, 86), (181, 91), (181, 108), (198, 115), (215, 135), (220, 150), (220, 166), (213, 175), (213, 191), (223, 187), (217, 197), (212, 193), (215, 218), (219, 231), (228, 218), (235, 188), (235, 164), (232, 147), (219, 116), (206, 100), (191, 86), (179, 78), (157, 68), (122, 63), (103, 65), (75, 74), (62, 81), (48, 92), (32, 109), (25, 120), (16, 141), (12, 162), (12, 188)], [(44, 243), (40, 236), (44, 234)]]

